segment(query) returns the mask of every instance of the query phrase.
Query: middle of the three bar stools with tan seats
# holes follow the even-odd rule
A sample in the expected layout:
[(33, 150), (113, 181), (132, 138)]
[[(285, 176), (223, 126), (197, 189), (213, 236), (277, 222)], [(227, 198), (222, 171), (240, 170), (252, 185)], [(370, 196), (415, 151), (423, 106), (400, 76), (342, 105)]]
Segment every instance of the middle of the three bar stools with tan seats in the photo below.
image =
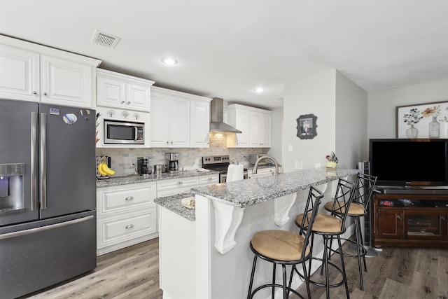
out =
[[(339, 179), (337, 182), (337, 188), (335, 193), (335, 200), (332, 202), (332, 212), (330, 215), (318, 213), (316, 216), (316, 220), (314, 221), (314, 225), (312, 228), (308, 228), (306, 225), (303, 226), (303, 217), (304, 214), (299, 214), (295, 218), (295, 225), (297, 225), (301, 230), (311, 230), (311, 249), (314, 244), (314, 235), (321, 235), (323, 237), (323, 258), (317, 258), (312, 256), (309, 258), (309, 267), (308, 267), (308, 277), (311, 276), (311, 260), (320, 260), (321, 265), (321, 275), (323, 274), (323, 270), (325, 269), (325, 284), (320, 283), (318, 281), (312, 281), (309, 279), (311, 284), (316, 286), (324, 286), (326, 298), (330, 298), (330, 288), (342, 286), (345, 284), (345, 291), (347, 298), (350, 298), (349, 295), (349, 286), (347, 284), (347, 277), (345, 273), (345, 265), (344, 265), (344, 256), (342, 255), (342, 245), (341, 245), (341, 235), (345, 232), (345, 219), (347, 216), (347, 211), (349, 211), (349, 207), (351, 201), (353, 200), (353, 190), (355, 185), (349, 181), (344, 179)], [(336, 212), (337, 211), (337, 212)], [(329, 249), (328, 249), (328, 241), (331, 241), (334, 237), (337, 238), (337, 245), (339, 249), (339, 257), (341, 259), (341, 267), (338, 267), (334, 263), (330, 262)], [(330, 242), (331, 246), (331, 242)], [(335, 267), (336, 270), (341, 272), (342, 280), (335, 283), (330, 284), (330, 277), (328, 274), (328, 265)], [(296, 270), (297, 272), (297, 270)], [(300, 275), (299, 272), (297, 274)]]

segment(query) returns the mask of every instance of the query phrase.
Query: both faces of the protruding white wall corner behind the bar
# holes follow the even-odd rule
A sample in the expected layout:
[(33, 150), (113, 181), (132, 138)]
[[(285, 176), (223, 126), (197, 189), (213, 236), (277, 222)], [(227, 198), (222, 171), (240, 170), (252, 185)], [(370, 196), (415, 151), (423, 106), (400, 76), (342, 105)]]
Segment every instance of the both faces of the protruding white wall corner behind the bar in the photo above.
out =
[[(302, 114), (317, 116), (314, 139), (299, 139), (296, 119)], [(288, 151), (288, 146), (293, 151)], [(295, 170), (325, 163), (334, 151), (339, 167), (355, 168), (367, 160), (367, 92), (339, 71), (289, 81), (283, 97), (283, 169)]]

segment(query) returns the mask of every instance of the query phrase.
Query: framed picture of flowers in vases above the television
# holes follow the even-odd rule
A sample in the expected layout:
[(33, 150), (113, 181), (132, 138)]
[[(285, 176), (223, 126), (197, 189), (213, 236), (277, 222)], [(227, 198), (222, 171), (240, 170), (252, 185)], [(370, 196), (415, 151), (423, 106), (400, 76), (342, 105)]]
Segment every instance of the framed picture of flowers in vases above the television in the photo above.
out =
[(448, 102), (396, 107), (397, 138), (448, 138)]

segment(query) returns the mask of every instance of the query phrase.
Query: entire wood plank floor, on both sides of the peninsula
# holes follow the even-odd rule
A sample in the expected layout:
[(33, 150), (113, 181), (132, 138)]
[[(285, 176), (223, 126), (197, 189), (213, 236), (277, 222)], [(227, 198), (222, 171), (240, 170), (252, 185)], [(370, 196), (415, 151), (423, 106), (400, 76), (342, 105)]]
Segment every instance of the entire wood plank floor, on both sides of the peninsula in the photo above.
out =
[[(153, 239), (99, 256), (97, 268), (90, 274), (26, 298), (160, 299), (158, 253), (158, 239)], [(367, 258), (365, 291), (360, 291), (357, 259), (344, 259), (351, 298), (448, 299), (448, 249), (384, 247), (377, 253), (377, 257)], [(336, 260), (332, 257), (332, 262)], [(319, 271), (312, 277), (320, 279)], [(304, 286), (298, 291), (306, 294)], [(311, 297), (325, 298), (325, 288), (311, 285)], [(331, 298), (346, 298), (344, 286), (332, 288)]]

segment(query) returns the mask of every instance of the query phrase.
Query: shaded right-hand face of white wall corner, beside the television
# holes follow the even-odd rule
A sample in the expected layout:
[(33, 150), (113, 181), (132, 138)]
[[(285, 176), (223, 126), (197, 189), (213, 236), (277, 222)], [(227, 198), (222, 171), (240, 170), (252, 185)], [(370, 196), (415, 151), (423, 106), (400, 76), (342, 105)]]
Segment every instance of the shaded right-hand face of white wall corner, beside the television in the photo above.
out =
[(367, 161), (367, 92), (336, 71), (336, 146), (338, 167)]

